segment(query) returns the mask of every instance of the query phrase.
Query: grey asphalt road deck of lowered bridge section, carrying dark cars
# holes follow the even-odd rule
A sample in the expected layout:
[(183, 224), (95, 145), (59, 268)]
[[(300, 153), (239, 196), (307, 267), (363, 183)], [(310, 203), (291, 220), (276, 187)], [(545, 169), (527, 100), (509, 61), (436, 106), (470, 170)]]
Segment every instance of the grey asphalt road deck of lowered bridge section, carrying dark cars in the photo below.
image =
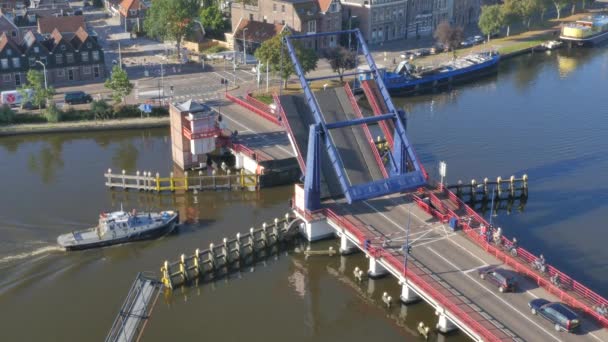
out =
[[(582, 329), (574, 334), (556, 332), (548, 321), (533, 316), (528, 302), (534, 298), (557, 300), (532, 281), (519, 277), (516, 293), (498, 292), (491, 283), (482, 281), (477, 270), (500, 262), (469, 241), (461, 232), (450, 229), (423, 212), (403, 195), (391, 195), (378, 199), (345, 205), (339, 202), (325, 202), (350, 220), (366, 225), (374, 244), (394, 246), (394, 253), (402, 255), (401, 246), (406, 241), (408, 213), (411, 210), (410, 244), (412, 253), (408, 263), (428, 269), (434, 278), (445, 281), (445, 286), (458, 291), (459, 300), (478, 308), (496, 327), (503, 327), (505, 335), (516, 335), (525, 341), (608, 341), (608, 331), (591, 319), (582, 317)], [(387, 247), (385, 247), (387, 248)], [(403, 258), (403, 256), (401, 256)], [(507, 268), (507, 267), (505, 267)], [(483, 315), (483, 314), (482, 314)], [(497, 328), (498, 329), (498, 328)], [(513, 338), (510, 338), (513, 339)]]

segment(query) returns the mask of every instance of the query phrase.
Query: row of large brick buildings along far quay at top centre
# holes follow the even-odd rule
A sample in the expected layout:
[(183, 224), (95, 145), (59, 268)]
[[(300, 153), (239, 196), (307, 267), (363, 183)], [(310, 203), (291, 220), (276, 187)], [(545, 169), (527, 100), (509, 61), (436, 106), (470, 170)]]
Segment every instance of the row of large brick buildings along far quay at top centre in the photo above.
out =
[[(263, 37), (284, 28), (311, 34), (358, 27), (365, 40), (382, 44), (432, 35), (439, 23), (477, 23), (485, 0), (252, 0), (233, 2), (233, 44), (259, 45)], [(244, 34), (243, 34), (244, 33)], [(315, 50), (333, 47), (337, 37), (305, 43)]]

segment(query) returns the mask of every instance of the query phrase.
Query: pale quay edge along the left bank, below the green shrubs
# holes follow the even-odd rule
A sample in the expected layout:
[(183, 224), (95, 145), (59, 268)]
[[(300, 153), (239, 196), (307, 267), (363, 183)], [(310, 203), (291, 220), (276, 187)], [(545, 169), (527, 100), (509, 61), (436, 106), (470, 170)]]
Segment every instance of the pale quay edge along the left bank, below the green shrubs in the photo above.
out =
[(76, 121), (42, 124), (0, 126), (0, 137), (25, 134), (90, 132), (102, 130), (168, 127), (169, 117), (131, 118), (115, 120)]

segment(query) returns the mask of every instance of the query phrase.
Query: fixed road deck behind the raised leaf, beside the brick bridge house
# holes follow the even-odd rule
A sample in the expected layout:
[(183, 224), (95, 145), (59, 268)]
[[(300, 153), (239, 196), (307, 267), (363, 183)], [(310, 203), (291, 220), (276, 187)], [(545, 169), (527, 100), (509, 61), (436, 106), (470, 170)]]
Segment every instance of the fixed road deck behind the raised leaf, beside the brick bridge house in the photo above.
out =
[(249, 110), (225, 99), (212, 104), (219, 109), (224, 122), (231, 131), (237, 130), (237, 142), (250, 149), (261, 151), (272, 159), (294, 158), (295, 153), (283, 127), (264, 120)]

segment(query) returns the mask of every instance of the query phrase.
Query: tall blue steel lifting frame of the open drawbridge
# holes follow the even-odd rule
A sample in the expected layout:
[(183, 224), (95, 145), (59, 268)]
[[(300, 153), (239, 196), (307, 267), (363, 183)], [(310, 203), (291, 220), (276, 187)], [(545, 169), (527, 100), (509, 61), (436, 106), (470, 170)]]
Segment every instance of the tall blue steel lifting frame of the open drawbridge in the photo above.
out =
[[(313, 80), (337, 78), (339, 76), (331, 75), (306, 78), (300, 61), (296, 55), (293, 41), (342, 34), (355, 35), (355, 43), (358, 43), (357, 51), (359, 48), (361, 49), (361, 52), (365, 57), (365, 61), (369, 66), (369, 71), (366, 70), (364, 73), (371, 74), (372, 78), (376, 81), (378, 89), (386, 102), (389, 113), (355, 120), (333, 122), (329, 124), (325, 122), (319, 103), (309, 87), (309, 82)], [(340, 186), (344, 192), (344, 196), (349, 204), (392, 193), (408, 191), (426, 185), (426, 179), (423, 176), (419, 161), (416, 158), (412, 145), (409, 143), (409, 140), (405, 135), (405, 112), (395, 108), (388, 90), (384, 85), (382, 75), (374, 62), (374, 59), (369, 52), (369, 49), (365, 44), (365, 40), (363, 39), (359, 29), (306, 35), (287, 35), (285, 36), (283, 43), (287, 46), (289, 57), (294, 64), (296, 75), (300, 80), (302, 89), (304, 89), (304, 96), (315, 120), (315, 124), (312, 124), (309, 127), (308, 136), (308, 154), (306, 158), (306, 173), (304, 178), (306, 209), (316, 210), (321, 207), (321, 148), (327, 150), (330, 159), (329, 162), (331, 162), (336, 172)], [(281, 52), (282, 51), (283, 49), (281, 49)], [(355, 75), (358, 74), (358, 72), (352, 74)], [(391, 160), (391, 163), (389, 164), (389, 177), (365, 184), (350, 184), (348, 177), (346, 176), (344, 163), (342, 162), (340, 155), (338, 154), (338, 150), (328, 134), (328, 131), (331, 129), (375, 123), (383, 120), (392, 120), (395, 127), (395, 132), (393, 133), (394, 144), (389, 154), (389, 159)], [(408, 161), (409, 164), (413, 166), (413, 170), (408, 171)]]

